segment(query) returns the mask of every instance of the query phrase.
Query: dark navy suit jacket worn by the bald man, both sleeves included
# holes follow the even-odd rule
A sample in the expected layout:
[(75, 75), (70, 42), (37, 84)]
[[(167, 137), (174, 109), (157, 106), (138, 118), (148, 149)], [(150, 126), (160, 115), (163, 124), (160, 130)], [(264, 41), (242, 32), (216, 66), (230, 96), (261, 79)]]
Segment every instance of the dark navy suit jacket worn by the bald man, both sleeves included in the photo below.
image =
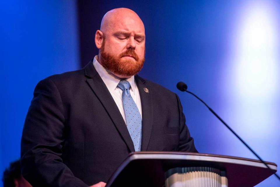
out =
[[(142, 106), (141, 151), (197, 152), (178, 96), (137, 75), (135, 81)], [(33, 187), (107, 182), (133, 151), (122, 115), (92, 62), (37, 84), (21, 141), (22, 175)]]

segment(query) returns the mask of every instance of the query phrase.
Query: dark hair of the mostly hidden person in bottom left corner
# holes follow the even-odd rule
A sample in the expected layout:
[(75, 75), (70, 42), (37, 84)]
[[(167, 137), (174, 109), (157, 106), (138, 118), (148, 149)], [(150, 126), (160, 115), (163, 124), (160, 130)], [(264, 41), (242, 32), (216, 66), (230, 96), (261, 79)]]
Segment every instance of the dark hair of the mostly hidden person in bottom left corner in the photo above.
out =
[(10, 166), (5, 169), (3, 173), (3, 186), (15, 187), (14, 179), (19, 179), (21, 175), (20, 171), (20, 159), (10, 163)]

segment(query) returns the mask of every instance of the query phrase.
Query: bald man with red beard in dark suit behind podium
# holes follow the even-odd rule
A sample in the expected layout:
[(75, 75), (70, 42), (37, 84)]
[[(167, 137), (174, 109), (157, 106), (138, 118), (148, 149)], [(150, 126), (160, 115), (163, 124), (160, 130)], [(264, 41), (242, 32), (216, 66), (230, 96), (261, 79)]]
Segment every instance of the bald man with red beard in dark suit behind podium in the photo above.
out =
[(197, 152), (178, 96), (137, 75), (145, 55), (139, 16), (109, 11), (95, 44), (99, 54), (83, 69), (34, 90), (21, 141), (32, 186), (101, 187), (130, 152)]

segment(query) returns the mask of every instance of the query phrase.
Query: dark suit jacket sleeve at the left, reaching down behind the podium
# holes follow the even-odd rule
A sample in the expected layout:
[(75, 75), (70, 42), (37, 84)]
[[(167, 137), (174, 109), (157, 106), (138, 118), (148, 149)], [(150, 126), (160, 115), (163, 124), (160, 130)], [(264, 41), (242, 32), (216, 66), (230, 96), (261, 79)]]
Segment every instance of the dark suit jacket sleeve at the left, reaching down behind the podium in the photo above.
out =
[(60, 93), (51, 78), (46, 78), (34, 90), (22, 132), (22, 175), (32, 186), (88, 186), (62, 161), (65, 129)]

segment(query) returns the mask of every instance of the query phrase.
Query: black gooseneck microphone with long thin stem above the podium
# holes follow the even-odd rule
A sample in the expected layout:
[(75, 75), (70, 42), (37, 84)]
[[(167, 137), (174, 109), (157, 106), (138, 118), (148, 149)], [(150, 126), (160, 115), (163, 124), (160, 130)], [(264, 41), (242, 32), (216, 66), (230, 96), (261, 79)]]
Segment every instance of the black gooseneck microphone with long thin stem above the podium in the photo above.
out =
[(234, 130), (232, 130), (232, 128), (229, 125), (227, 125), (225, 121), (222, 118), (220, 118), (220, 116), (218, 116), (216, 112), (214, 112), (204, 101), (202, 101), (194, 93), (187, 90), (188, 86), (185, 83), (178, 82), (176, 86), (178, 90), (182, 92), (188, 92), (191, 95), (195, 96), (197, 99), (199, 99), (199, 101), (201, 101), (280, 180), (280, 177), (276, 173), (274, 173), (274, 171), (265, 163), (265, 161), (263, 161), (262, 158), (260, 158), (260, 156), (255, 151), (253, 151), (253, 149), (236, 132), (234, 132)]

